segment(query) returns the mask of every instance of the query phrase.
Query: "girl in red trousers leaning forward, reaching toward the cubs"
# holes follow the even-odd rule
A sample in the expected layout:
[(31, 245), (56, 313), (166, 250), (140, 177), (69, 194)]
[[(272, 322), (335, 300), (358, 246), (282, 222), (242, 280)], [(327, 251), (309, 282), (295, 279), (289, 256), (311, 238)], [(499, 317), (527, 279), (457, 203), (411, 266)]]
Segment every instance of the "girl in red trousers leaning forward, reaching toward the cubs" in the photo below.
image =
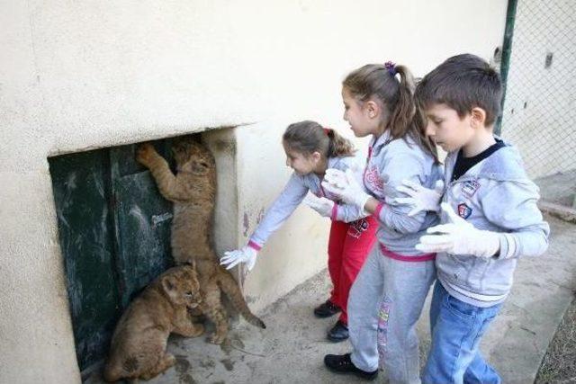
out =
[[(341, 312), (338, 322), (329, 330), (328, 338), (333, 342), (344, 341), (348, 338), (348, 291), (374, 246), (378, 224), (361, 208), (339, 201), (326, 192), (321, 183), (328, 168), (348, 172), (360, 181), (364, 165), (354, 156), (350, 141), (315, 121), (301, 121), (288, 126), (284, 131), (283, 145), (286, 165), (294, 170), (292, 177), (249, 237), (247, 246), (226, 252), (221, 264), (230, 269), (238, 263), (246, 263), (248, 271), (251, 270), (268, 237), (304, 201), (320, 215), (332, 220), (328, 268), (333, 288), (329, 299), (314, 308), (314, 314), (316, 317), (330, 317)], [(309, 191), (312, 195), (304, 199)]]

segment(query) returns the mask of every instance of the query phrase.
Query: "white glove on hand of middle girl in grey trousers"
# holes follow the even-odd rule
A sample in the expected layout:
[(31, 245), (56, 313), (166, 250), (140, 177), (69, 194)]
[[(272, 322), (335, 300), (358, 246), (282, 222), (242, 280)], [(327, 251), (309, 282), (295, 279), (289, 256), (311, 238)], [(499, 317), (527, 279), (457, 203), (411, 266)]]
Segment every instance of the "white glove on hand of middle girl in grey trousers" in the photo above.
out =
[(364, 210), (366, 201), (370, 199), (370, 195), (365, 192), (364, 186), (356, 181), (354, 173), (349, 168), (346, 173), (335, 168), (327, 169), (322, 187), (336, 195), (339, 200), (355, 205), (360, 210)]

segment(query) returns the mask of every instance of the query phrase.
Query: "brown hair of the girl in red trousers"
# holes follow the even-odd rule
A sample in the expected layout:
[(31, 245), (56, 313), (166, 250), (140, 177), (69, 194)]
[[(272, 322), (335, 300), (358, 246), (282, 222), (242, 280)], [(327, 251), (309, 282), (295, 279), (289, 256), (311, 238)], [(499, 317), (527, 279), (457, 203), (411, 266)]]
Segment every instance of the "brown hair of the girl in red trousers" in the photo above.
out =
[(352, 143), (334, 129), (323, 128), (316, 121), (290, 124), (282, 136), (284, 143), (294, 151), (309, 156), (314, 152), (326, 157), (354, 155)]

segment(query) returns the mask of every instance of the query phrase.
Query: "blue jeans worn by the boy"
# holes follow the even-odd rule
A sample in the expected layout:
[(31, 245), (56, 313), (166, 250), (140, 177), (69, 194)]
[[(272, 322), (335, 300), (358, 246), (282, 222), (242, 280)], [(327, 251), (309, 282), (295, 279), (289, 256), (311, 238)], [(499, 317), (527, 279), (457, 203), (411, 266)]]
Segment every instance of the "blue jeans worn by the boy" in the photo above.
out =
[(436, 282), (430, 307), (432, 345), (422, 381), (427, 384), (500, 384), (478, 347), (501, 303), (480, 308), (455, 299)]

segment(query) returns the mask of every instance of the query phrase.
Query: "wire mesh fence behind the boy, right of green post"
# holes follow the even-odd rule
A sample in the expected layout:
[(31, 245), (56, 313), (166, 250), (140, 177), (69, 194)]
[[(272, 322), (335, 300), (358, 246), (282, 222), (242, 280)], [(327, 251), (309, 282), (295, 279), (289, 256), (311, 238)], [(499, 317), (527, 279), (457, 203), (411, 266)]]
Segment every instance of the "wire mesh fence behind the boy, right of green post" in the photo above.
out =
[[(543, 197), (576, 192), (576, 1), (518, 1), (501, 135), (516, 145)], [(554, 196), (553, 196), (554, 194)]]

